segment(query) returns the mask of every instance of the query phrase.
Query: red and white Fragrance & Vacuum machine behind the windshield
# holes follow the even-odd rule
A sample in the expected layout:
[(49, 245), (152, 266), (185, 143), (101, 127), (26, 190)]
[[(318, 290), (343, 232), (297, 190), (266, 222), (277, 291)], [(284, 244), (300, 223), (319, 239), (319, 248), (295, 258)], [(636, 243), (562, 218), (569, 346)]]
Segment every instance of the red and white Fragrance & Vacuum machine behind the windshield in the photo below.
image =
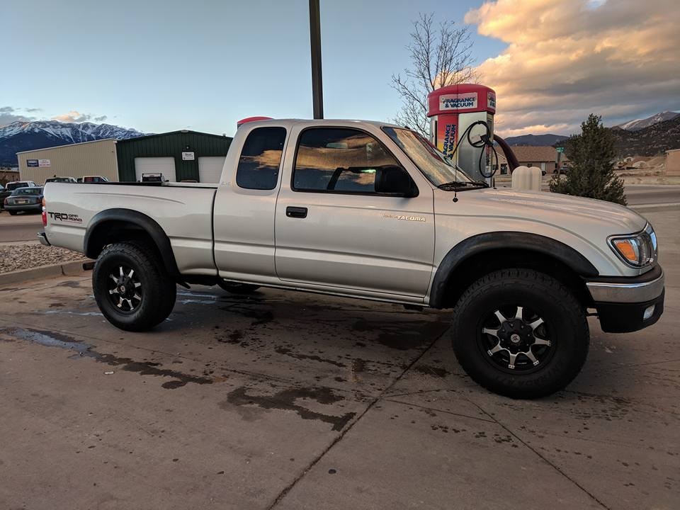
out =
[[(482, 171), (488, 175), (489, 165), (492, 164), (490, 147), (472, 147), (465, 136), (455, 153), (453, 149), (459, 137), (477, 120), (487, 123), (493, 140), (496, 93), (484, 85), (449, 85), (430, 92), (427, 101), (431, 142), (473, 179), (485, 179), (480, 172), (480, 156)], [(485, 126), (476, 125), (470, 130), (470, 140), (477, 142), (486, 134)]]

